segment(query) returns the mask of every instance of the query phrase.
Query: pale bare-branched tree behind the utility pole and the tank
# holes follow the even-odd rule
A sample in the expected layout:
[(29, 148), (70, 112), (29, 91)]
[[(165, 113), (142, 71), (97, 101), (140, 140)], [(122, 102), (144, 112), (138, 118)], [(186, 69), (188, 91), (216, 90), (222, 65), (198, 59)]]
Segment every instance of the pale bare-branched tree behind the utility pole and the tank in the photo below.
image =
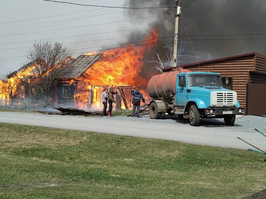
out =
[[(169, 44), (167, 46), (164, 46), (164, 48), (168, 49), (167, 51), (165, 51), (167, 59), (166, 60), (162, 60), (159, 56), (159, 53), (156, 53), (156, 59), (154, 59), (154, 57), (152, 56), (152, 61), (147, 61), (146, 62), (150, 62), (150, 63), (156, 63), (156, 65), (154, 65), (151, 69), (155, 69), (156, 71), (160, 71), (161, 73), (163, 72), (163, 68), (168, 68), (168, 67), (173, 67), (173, 45)], [(177, 54), (177, 64), (180, 64), (182, 62), (184, 62), (185, 54), (190, 54), (190, 51), (185, 51), (184, 53), (181, 53), (180, 51), (178, 51)]]

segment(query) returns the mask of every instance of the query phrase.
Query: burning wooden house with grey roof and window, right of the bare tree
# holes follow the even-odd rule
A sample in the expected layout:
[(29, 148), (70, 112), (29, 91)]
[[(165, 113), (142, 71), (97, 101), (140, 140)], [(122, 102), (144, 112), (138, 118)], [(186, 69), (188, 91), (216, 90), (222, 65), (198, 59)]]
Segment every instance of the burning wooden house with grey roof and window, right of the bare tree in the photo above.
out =
[[(110, 89), (110, 84), (106, 79), (102, 82), (95, 82), (91, 79), (88, 69), (93, 67), (103, 54), (80, 55), (72, 63), (70, 63), (60, 75), (53, 99), (58, 105), (67, 105), (79, 108), (100, 109), (102, 108), (102, 92), (104, 88)], [(92, 69), (94, 70), (94, 69)], [(93, 84), (95, 83), (95, 84)], [(114, 90), (119, 89), (120, 92), (116, 96), (116, 109), (122, 109), (131, 106), (130, 91), (132, 86), (119, 85)], [(122, 101), (121, 101), (122, 98)], [(123, 105), (122, 105), (123, 102)]]

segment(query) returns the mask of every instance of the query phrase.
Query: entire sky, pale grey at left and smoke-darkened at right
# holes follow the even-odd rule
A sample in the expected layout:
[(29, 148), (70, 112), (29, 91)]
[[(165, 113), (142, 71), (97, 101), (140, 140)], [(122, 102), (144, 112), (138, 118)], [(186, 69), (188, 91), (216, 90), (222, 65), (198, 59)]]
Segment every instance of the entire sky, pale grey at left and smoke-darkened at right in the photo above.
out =
[[(71, 0), (62, 0), (62, 1), (71, 1)], [(148, 6), (172, 6), (174, 0), (115, 0), (115, 1), (77, 0), (74, 2), (83, 3), (83, 4), (92, 4), (92, 5), (105, 5), (105, 6), (118, 6), (118, 5), (131, 3), (131, 5), (126, 5), (126, 6), (148, 7)], [(45, 7), (0, 14), (0, 55), (1, 55), (0, 74), (5, 73), (6, 70), (8, 70), (9, 68), (11, 68), (12, 70), (16, 70), (19, 67), (21, 67), (23, 63), (27, 62), (26, 59), (23, 59), (24, 57), (20, 58), (20, 56), (24, 56), (27, 53), (28, 50), (27, 47), (32, 46), (33, 42), (23, 42), (23, 41), (68, 37), (68, 38), (60, 38), (54, 40), (65, 43), (78, 42), (72, 44), (65, 44), (68, 50), (74, 53), (73, 57), (76, 58), (78, 55), (82, 54), (82, 52), (85, 51), (100, 50), (103, 48), (110, 48), (110, 47), (103, 47), (103, 48), (98, 47), (93, 49), (84, 49), (84, 48), (121, 44), (123, 42), (129, 42), (129, 41), (139, 41), (143, 39), (143, 37), (145, 37), (149, 29), (138, 29), (135, 30), (134, 32), (121, 31), (121, 32), (113, 32), (105, 34), (95, 34), (95, 33), (119, 31), (119, 30), (133, 29), (133, 28), (151, 27), (151, 26), (160, 27), (159, 37), (172, 36), (174, 32), (173, 8), (168, 8), (165, 10), (139, 9), (134, 11), (128, 11), (123, 8), (100, 9), (99, 7), (77, 6), (77, 5), (69, 5), (64, 3), (56, 5), (51, 5), (51, 4), (56, 4), (56, 3), (46, 2), (41, 0), (27, 0), (27, 1), (2, 0), (1, 1), (0, 13), (38, 7), (38, 6), (45, 6)], [(181, 15), (182, 21), (184, 22), (186, 29), (188, 30), (188, 33), (190, 35), (236, 34), (232, 36), (192, 36), (191, 37), (192, 43), (197, 53), (199, 61), (232, 56), (237, 54), (250, 53), (250, 52), (266, 54), (266, 47), (265, 47), (266, 39), (250, 40), (250, 38), (266, 38), (266, 26), (264, 25), (266, 17), (265, 0), (253, 0), (253, 1), (180, 0), (180, 6), (182, 7), (182, 15)], [(68, 14), (72, 12), (79, 12), (79, 13)], [(108, 12), (117, 12), (117, 13), (106, 14)], [(61, 14), (67, 14), (67, 15), (49, 17), (52, 15), (61, 15)], [(98, 15), (98, 16), (92, 16), (92, 15)], [(149, 16), (151, 18), (146, 18)], [(41, 18), (41, 17), (45, 18), (37, 20), (21, 21), (16, 23), (6, 23), (6, 22), (27, 20), (27, 19)], [(86, 18), (80, 18), (80, 17), (86, 17)], [(78, 18), (78, 19), (72, 19), (72, 18)], [(136, 18), (145, 18), (145, 19), (123, 21), (123, 20), (130, 20)], [(63, 21), (52, 22), (57, 20), (63, 20)], [(122, 21), (122, 22), (93, 25), (100, 23), (109, 23), (114, 21)], [(36, 24), (43, 22), (49, 22), (49, 23)], [(6, 24), (1, 24), (1, 23), (6, 23)], [(36, 24), (36, 25), (10, 28), (13, 26), (22, 26), (28, 24)], [(72, 27), (85, 26), (85, 25), (87, 25), (87, 27), (72, 28)], [(93, 26), (88, 26), (88, 25), (93, 25)], [(68, 28), (68, 29), (39, 32), (39, 31), (47, 31), (47, 30), (61, 29), (61, 28)], [(30, 34), (21, 34), (23, 32)], [(39, 33), (32, 33), (32, 32), (39, 32)], [(188, 37), (184, 27), (182, 27), (181, 33), (183, 34), (183, 40), (184, 40), (182, 42), (182, 45), (180, 45), (181, 53), (186, 50), (192, 51), (192, 53), (186, 57), (184, 63), (196, 62), (197, 59), (196, 56), (194, 55), (190, 41), (186, 41), (188, 40)], [(10, 34), (20, 34), (20, 35), (7, 36)], [(83, 34), (94, 34), (94, 35), (77, 37), (77, 35), (83, 35)], [(260, 35), (238, 35), (238, 34), (260, 34)], [(111, 38), (117, 38), (117, 39), (111, 39)], [(243, 38), (243, 40), (238, 40), (241, 38)], [(218, 39), (218, 40), (209, 40), (209, 39)], [(236, 40), (220, 40), (220, 39), (236, 39)], [(99, 41), (80, 42), (88, 40), (99, 40)], [(162, 41), (162, 39), (159, 41)], [(23, 43), (5, 44), (11, 42), (23, 42)], [(156, 52), (159, 52), (161, 56), (163, 56), (165, 55), (165, 49), (163, 48), (164, 46), (165, 43), (160, 43), (157, 46), (154, 46), (154, 49), (156, 50)], [(1, 49), (18, 48), (18, 47), (23, 47), (23, 48), (1, 50)], [(117, 46), (111, 46), (111, 47), (117, 47)], [(77, 50), (77, 49), (82, 49), (82, 50)], [(153, 50), (146, 53), (144, 58), (146, 60), (152, 60), (152, 55), (153, 56), (155, 55)], [(9, 57), (18, 57), (18, 58), (9, 58)], [(17, 59), (17, 60), (9, 60), (9, 59)], [(3, 60), (9, 60), (9, 61), (3, 61)], [(148, 76), (150, 76), (151, 73), (150, 67), (151, 66), (148, 63), (146, 63), (145, 70), (147, 73), (149, 73)]]

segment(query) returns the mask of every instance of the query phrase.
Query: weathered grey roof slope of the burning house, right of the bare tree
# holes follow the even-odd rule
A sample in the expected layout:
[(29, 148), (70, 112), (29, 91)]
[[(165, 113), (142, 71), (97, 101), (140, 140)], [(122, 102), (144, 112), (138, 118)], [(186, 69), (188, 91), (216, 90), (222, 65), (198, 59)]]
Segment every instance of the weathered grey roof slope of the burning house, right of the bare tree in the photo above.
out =
[(80, 55), (71, 62), (62, 74), (60, 79), (74, 79), (82, 75), (94, 62), (96, 62), (102, 54), (96, 55)]

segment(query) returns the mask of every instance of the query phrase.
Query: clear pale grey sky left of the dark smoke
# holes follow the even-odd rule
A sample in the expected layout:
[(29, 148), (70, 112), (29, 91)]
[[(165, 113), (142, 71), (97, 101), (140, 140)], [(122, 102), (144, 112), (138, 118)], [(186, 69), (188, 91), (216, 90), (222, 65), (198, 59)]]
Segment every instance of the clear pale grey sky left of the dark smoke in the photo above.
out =
[[(64, 1), (71, 1), (71, 0), (64, 0)], [(136, 0), (135, 2), (142, 2), (142, 1), (144, 0)], [(74, 2), (83, 3), (83, 4), (89, 3), (92, 5), (105, 5), (105, 6), (119, 6), (119, 5), (125, 4), (124, 0), (115, 0), (115, 1), (79, 0), (79, 1), (74, 1)], [(106, 46), (106, 45), (112, 45), (112, 44), (121, 44), (127, 41), (127, 38), (108, 39), (108, 40), (102, 40), (102, 41), (100, 40), (100, 41), (92, 41), (92, 42), (80, 42), (80, 41), (126, 37), (130, 31), (75, 37), (77, 35), (118, 31), (118, 30), (125, 30), (125, 29), (131, 29), (131, 28), (141, 28), (141, 27), (146, 27), (149, 22), (152, 22), (152, 20), (154, 20), (153, 18), (147, 18), (147, 19), (135, 20), (135, 22), (138, 21), (138, 23), (132, 23), (132, 21), (124, 21), (124, 22), (118, 22), (118, 23), (88, 26), (88, 27), (70, 28), (70, 27), (77, 27), (77, 26), (100, 24), (100, 23), (109, 23), (109, 22), (114, 22), (114, 21), (123, 21), (123, 20), (128, 20), (129, 18), (126, 16), (126, 12), (127, 12), (125, 11), (126, 9), (121, 9), (121, 8), (77, 6), (77, 5), (69, 5), (69, 4), (64, 4), (64, 3), (60, 3), (56, 5), (51, 5), (51, 4), (56, 4), (56, 3), (40, 1), (40, 0), (1, 1), (0, 13), (27, 9), (27, 8), (32, 8), (32, 7), (38, 7), (38, 6), (45, 6), (45, 7), (39, 7), (39, 8), (34, 8), (34, 9), (29, 9), (29, 10), (22, 10), (22, 11), (0, 14), (0, 23), (27, 20), (27, 19), (33, 19), (33, 18), (41, 18), (41, 17), (47, 17), (47, 18), (21, 21), (21, 22), (16, 22), (16, 23), (6, 23), (6, 24), (0, 25), (0, 28), (1, 28), (0, 29), (0, 54), (1, 54), (0, 74), (5, 73), (9, 68), (12, 70), (16, 70), (19, 67), (21, 67), (23, 63), (27, 62), (27, 59), (23, 59), (25, 57), (20, 58), (20, 56), (24, 56), (27, 53), (28, 51), (27, 47), (32, 46), (33, 42), (24, 42), (24, 43), (17, 43), (17, 44), (5, 44), (5, 43), (73, 36), (73, 37), (60, 38), (60, 39), (54, 39), (54, 40), (62, 41), (65, 43), (79, 42), (79, 43), (74, 43), (74, 44), (65, 44), (68, 50), (74, 53), (73, 57), (76, 58), (78, 55), (82, 54), (82, 53), (77, 53), (77, 52), (99, 50), (100, 48), (87, 49), (87, 50), (86, 49), (76, 50), (76, 49), (84, 49), (84, 48), (90, 48), (90, 47), (95, 47), (95, 46)], [(46, 6), (46, 5), (50, 5), (50, 6)], [(130, 6), (130, 5), (127, 5), (127, 6)], [(142, 3), (134, 3), (134, 6), (142, 6)], [(81, 12), (81, 11), (86, 11), (86, 12)], [(124, 11), (124, 12), (119, 12), (119, 11)], [(68, 14), (72, 12), (80, 12), (80, 13)], [(109, 12), (117, 12), (117, 13), (106, 14)], [(49, 16), (61, 15), (61, 14), (68, 14), (68, 15), (49, 17)], [(100, 14), (104, 14), (104, 15), (100, 15)], [(92, 15), (98, 15), (98, 16), (92, 16)], [(72, 18), (83, 17), (83, 16), (85, 16), (85, 18), (72, 19)], [(71, 20), (67, 20), (67, 19), (71, 19)], [(63, 21), (59, 21), (56, 23), (53, 22), (52, 24), (50, 24), (51, 21), (58, 21), (58, 20), (63, 20)], [(49, 23), (36, 24), (36, 23), (43, 23), (43, 22), (49, 22)], [(28, 24), (36, 24), (36, 25), (9, 28), (9, 27), (22, 26), (22, 25), (28, 25)], [(48, 26), (51, 26), (51, 27), (48, 27)], [(3, 29), (3, 28), (7, 28), (7, 29)], [(39, 32), (39, 31), (61, 29), (61, 28), (69, 28), (69, 29), (49, 31), (49, 32), (40, 32), (40, 33), (31, 33), (31, 32)], [(30, 33), (30, 34), (21, 34), (21, 33)], [(20, 35), (7, 36), (11, 34), (20, 34)], [(25, 48), (1, 50), (1, 49), (18, 48), (18, 47), (25, 47)], [(18, 57), (18, 58), (9, 58), (9, 57)], [(2, 59), (2, 58), (7, 58), (7, 59)], [(17, 59), (17, 60), (9, 60), (9, 59)], [(2, 61), (2, 60), (9, 60), (9, 61)]]

